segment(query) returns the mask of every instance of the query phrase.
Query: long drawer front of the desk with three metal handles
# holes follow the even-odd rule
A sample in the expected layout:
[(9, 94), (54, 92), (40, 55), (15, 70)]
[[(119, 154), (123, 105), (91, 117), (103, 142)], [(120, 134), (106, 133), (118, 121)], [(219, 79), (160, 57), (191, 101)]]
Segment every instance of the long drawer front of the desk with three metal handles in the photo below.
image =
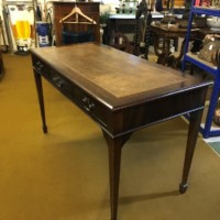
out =
[(101, 127), (107, 128), (108, 109), (56, 69), (33, 56), (33, 67)]

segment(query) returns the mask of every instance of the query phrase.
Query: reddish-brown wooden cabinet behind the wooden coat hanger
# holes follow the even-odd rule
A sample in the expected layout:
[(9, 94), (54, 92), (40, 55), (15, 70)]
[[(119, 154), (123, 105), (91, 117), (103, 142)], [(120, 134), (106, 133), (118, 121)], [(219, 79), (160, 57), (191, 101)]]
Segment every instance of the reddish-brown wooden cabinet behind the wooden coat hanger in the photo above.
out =
[[(77, 6), (87, 16), (94, 19), (97, 24), (92, 26), (95, 41), (100, 42), (100, 25), (99, 25), (99, 2), (53, 2), (54, 12), (54, 30), (56, 36), (56, 45), (62, 45), (62, 24), (59, 20), (69, 14), (73, 8)], [(79, 25), (79, 24), (78, 24)]]

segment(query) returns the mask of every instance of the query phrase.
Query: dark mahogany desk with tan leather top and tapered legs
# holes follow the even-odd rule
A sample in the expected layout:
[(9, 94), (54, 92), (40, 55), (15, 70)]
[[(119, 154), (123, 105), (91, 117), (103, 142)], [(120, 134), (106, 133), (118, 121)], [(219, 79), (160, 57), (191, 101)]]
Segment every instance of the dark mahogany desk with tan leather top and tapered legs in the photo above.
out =
[(188, 141), (179, 185), (179, 191), (186, 191), (210, 81), (199, 81), (174, 69), (95, 43), (41, 47), (31, 53), (44, 133), (47, 132), (47, 125), (42, 76), (102, 130), (109, 148), (111, 220), (117, 220), (121, 150), (124, 143), (142, 128), (189, 113)]

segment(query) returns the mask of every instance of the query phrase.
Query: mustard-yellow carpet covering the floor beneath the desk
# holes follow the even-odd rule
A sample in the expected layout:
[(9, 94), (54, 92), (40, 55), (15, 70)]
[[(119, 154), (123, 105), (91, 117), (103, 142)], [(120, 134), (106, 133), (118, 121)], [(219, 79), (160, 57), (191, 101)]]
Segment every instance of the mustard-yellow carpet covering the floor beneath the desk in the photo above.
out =
[[(44, 80), (48, 134), (43, 134), (31, 57), (3, 58), (0, 219), (110, 219), (101, 130)], [(123, 146), (120, 220), (219, 220), (220, 160), (201, 135), (188, 190), (178, 194), (187, 129), (177, 118), (134, 132)]]

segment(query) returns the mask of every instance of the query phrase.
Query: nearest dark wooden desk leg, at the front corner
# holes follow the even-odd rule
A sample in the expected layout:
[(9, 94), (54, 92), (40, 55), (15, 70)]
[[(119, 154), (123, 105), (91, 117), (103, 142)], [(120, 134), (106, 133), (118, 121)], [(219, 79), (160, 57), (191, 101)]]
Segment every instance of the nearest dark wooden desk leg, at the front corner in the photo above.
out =
[(103, 136), (109, 148), (109, 178), (110, 178), (110, 206), (111, 220), (117, 220), (118, 200), (119, 200), (119, 183), (121, 166), (121, 150), (123, 144), (129, 140), (131, 134), (112, 139), (103, 130)]

